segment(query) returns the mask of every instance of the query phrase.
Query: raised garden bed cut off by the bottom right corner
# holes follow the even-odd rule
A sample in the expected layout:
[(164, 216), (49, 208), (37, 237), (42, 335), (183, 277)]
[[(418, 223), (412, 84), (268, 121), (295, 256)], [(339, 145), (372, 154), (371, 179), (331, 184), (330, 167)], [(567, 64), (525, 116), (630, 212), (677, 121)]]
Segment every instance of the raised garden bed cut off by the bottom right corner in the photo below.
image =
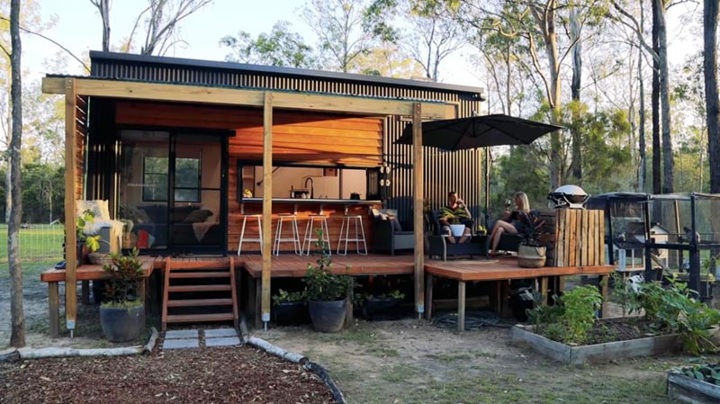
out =
[[(668, 373), (668, 396), (693, 404), (715, 404), (720, 402), (720, 379), (711, 377), (713, 369), (720, 375), (720, 365), (696, 366), (695, 368), (677, 369)], [(693, 374), (690, 377), (688, 374)], [(698, 374), (700, 373), (700, 374)], [(703, 380), (700, 380), (703, 379)], [(712, 382), (710, 382), (712, 381)]]

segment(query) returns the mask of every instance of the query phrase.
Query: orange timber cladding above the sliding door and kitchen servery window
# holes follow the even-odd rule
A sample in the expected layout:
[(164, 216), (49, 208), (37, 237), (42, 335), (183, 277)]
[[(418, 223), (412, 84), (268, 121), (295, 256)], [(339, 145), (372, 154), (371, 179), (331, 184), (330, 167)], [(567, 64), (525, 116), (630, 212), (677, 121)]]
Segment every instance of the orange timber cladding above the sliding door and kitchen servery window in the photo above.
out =
[[(234, 130), (229, 156), (261, 161), (263, 114), (257, 108), (118, 102), (118, 124)], [(273, 160), (324, 166), (379, 166), (383, 119), (318, 112), (273, 112)], [(232, 163), (232, 162), (231, 162)]]

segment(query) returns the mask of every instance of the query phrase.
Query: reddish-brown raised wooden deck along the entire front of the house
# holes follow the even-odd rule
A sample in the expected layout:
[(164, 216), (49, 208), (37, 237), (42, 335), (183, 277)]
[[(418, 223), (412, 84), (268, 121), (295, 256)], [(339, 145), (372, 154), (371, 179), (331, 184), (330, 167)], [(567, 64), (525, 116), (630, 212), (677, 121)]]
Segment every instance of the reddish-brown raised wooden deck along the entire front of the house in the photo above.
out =
[[(255, 313), (260, 310), (260, 291), (262, 288), (262, 256), (245, 255), (233, 256), (236, 270), (244, 270), (251, 282), (244, 285), (247, 293), (248, 309)], [(162, 256), (143, 256), (144, 275), (149, 277), (153, 270), (164, 270), (166, 258)], [(271, 277), (273, 278), (301, 278), (307, 272), (308, 264), (315, 264), (318, 256), (296, 256), (285, 254), (273, 256)], [(218, 261), (227, 263), (228, 256), (184, 256), (172, 257), (174, 267), (182, 267), (184, 263), (197, 267), (198, 262), (207, 265), (217, 265)], [(369, 254), (360, 256), (348, 254), (347, 256), (332, 256), (332, 272), (335, 274), (349, 274), (353, 276), (380, 275), (380, 274), (409, 274), (415, 273), (414, 256), (387, 256)], [(458, 310), (462, 311), (461, 321), (464, 319), (464, 284), (468, 281), (496, 282), (496, 304), (500, 302), (500, 281), (510, 279), (538, 279), (541, 290), (547, 290), (550, 277), (562, 277), (566, 275), (599, 275), (607, 276), (614, 271), (611, 265), (595, 266), (545, 266), (541, 268), (521, 268), (518, 266), (516, 257), (503, 257), (499, 259), (458, 259), (451, 261), (440, 261), (426, 258), (425, 273), (428, 276), (426, 282), (426, 317), (432, 315), (432, 279), (434, 276), (444, 277), (458, 281)], [(76, 270), (76, 279), (83, 281), (84, 291), (87, 281), (101, 280), (107, 278), (101, 265), (81, 265)], [(58, 283), (65, 282), (65, 270), (51, 268), (40, 275), (42, 282), (48, 283), (49, 289), (49, 319), (50, 335), (55, 337), (59, 330), (59, 294)], [(254, 281), (254, 282), (253, 282)], [(253, 284), (254, 283), (254, 284)], [(607, 286), (604, 288), (607, 290)], [(84, 292), (85, 295), (86, 292)], [(498, 306), (496, 306), (497, 309)], [(255, 316), (258, 318), (259, 316)], [(258, 320), (256, 325), (258, 325)], [(459, 324), (459, 326), (461, 325)], [(464, 327), (464, 324), (462, 325)]]

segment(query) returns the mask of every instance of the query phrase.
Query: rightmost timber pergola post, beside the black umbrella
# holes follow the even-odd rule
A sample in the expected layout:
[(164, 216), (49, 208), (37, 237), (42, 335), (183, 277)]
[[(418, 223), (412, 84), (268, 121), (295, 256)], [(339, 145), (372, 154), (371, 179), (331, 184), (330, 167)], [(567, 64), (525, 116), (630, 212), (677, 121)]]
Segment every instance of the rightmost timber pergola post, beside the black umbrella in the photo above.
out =
[(422, 154), (422, 104), (412, 105), (413, 229), (415, 229), (415, 310), (418, 319), (425, 312), (425, 234), (423, 231), (424, 161)]

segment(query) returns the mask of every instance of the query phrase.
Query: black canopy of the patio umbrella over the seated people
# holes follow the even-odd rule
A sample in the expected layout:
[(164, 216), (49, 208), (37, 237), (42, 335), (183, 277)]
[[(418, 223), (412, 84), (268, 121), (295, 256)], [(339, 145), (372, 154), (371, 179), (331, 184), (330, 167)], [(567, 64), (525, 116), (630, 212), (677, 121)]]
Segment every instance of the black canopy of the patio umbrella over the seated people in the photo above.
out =
[[(562, 126), (528, 121), (504, 114), (480, 115), (422, 124), (422, 144), (446, 150), (500, 145), (528, 145)], [(398, 144), (412, 144), (412, 124), (405, 127)]]

